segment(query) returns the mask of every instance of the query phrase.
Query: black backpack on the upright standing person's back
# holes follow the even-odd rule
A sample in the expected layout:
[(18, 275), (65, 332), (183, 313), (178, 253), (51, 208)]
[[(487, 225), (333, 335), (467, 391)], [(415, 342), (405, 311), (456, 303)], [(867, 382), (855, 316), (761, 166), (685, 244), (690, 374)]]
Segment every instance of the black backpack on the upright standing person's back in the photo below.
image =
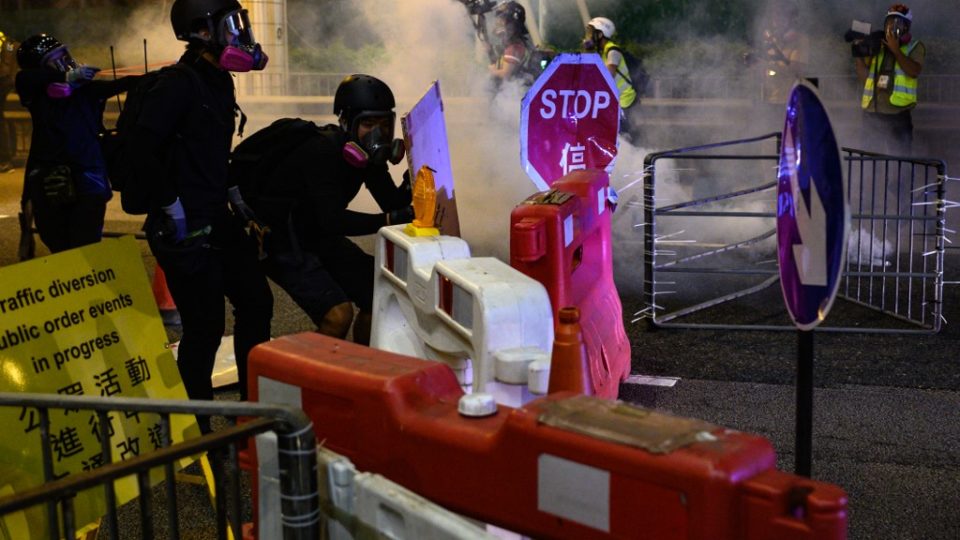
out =
[(182, 64), (173, 64), (158, 71), (145, 73), (137, 84), (127, 91), (127, 98), (120, 116), (117, 117), (116, 127), (100, 134), (100, 148), (107, 166), (107, 177), (110, 179), (113, 190), (120, 192), (120, 205), (128, 214), (146, 214), (150, 210), (150, 190), (144, 182), (138, 181), (139, 178), (133, 172), (133, 163), (125, 155), (124, 148), (140, 118), (144, 97), (153, 90), (160, 77), (170, 70), (188, 73), (195, 84), (200, 84), (199, 75)]

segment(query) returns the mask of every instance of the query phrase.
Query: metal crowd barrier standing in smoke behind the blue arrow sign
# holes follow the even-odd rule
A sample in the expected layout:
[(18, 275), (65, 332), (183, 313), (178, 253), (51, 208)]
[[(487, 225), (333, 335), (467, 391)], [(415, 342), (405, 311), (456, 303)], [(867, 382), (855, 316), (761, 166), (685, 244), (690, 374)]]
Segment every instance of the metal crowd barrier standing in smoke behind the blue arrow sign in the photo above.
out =
[[(770, 142), (774, 143), (774, 153), (743, 151), (745, 146)], [(636, 320), (648, 319), (654, 326), (674, 328), (794, 328), (788, 324), (714, 321), (708, 311), (709, 308), (760, 293), (778, 283), (776, 247), (771, 239), (775, 240), (776, 236), (776, 163), (779, 148), (780, 134), (770, 133), (647, 155), (643, 194), (645, 307), (637, 313)], [(838, 298), (906, 324), (869, 327), (863, 321), (845, 319), (843, 322), (850, 324), (822, 326), (820, 329), (878, 333), (938, 332), (943, 320), (943, 255), (945, 210), (948, 206), (944, 199), (946, 164), (936, 159), (887, 156), (850, 148), (844, 148), (842, 152), (850, 198), (851, 233)], [(762, 173), (759, 180), (749, 185), (738, 185), (733, 191), (658, 205), (658, 163), (668, 159), (677, 163), (696, 162), (705, 167), (727, 167), (733, 162), (762, 167), (762, 164), (768, 163), (770, 173), (769, 177)], [(743, 201), (757, 195), (763, 197), (759, 201), (764, 206), (763, 211), (756, 211), (755, 208), (745, 211), (735, 207), (730, 209), (730, 206), (742, 205)], [(753, 199), (751, 202), (758, 201)], [(726, 207), (719, 210), (711, 208), (716, 205)], [(730, 218), (736, 218), (741, 220), (740, 230), (754, 229), (754, 232), (742, 238), (704, 245), (695, 240), (681, 239), (679, 235), (685, 231), (679, 230), (680, 226), (677, 226), (679, 232), (661, 230), (664, 228), (664, 218), (711, 220), (715, 224), (711, 227), (714, 230), (730, 223)], [(760, 263), (753, 261), (753, 264), (744, 265), (743, 261), (734, 261), (737, 264), (724, 261), (724, 257), (746, 253), (765, 242), (774, 246), (769, 251), (760, 250), (762, 255), (767, 256)], [(664, 275), (695, 278), (666, 281)], [(732, 280), (739, 288), (719, 296), (697, 298), (692, 304), (684, 304), (683, 300), (669, 301), (670, 295), (676, 294), (685, 285), (696, 284), (702, 289), (718, 290), (720, 287), (711, 286), (711, 280), (721, 279)], [(744, 286), (744, 282), (749, 283)], [(785, 313), (779, 296), (776, 301), (780, 302)], [(680, 322), (694, 314), (698, 314), (697, 322)], [(728, 316), (725, 318), (729, 319)], [(835, 319), (830, 322), (834, 323)]]

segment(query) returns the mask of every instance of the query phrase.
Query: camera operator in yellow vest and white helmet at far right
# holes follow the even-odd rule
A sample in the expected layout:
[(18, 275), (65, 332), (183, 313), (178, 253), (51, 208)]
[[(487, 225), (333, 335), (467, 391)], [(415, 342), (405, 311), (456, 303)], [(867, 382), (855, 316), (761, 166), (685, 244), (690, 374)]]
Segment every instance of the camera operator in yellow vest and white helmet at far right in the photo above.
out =
[(899, 155), (909, 154), (913, 144), (910, 111), (917, 106), (917, 77), (926, 54), (910, 33), (912, 21), (910, 8), (893, 4), (882, 39), (870, 34), (853, 42), (857, 77), (864, 83), (860, 106), (867, 132), (885, 134), (883, 150)]

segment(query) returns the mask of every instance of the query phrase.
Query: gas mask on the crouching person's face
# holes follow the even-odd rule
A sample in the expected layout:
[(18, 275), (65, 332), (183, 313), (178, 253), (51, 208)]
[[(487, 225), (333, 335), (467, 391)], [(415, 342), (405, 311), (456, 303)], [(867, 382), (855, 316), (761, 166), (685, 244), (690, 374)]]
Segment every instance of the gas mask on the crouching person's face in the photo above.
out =
[[(362, 169), (371, 164), (383, 165), (389, 161), (396, 165), (403, 161), (406, 146), (403, 140), (393, 138), (395, 121), (393, 112), (372, 111), (357, 115), (350, 130), (352, 140), (343, 147), (346, 162)], [(361, 126), (364, 126), (363, 135), (359, 135)]]

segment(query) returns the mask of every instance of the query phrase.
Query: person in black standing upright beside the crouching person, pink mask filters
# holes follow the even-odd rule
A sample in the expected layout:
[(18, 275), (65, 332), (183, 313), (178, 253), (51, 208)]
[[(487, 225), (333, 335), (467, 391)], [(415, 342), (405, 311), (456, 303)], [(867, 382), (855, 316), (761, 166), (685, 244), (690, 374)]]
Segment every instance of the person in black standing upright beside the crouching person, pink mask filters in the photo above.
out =
[[(213, 398), (210, 375), (226, 296), (246, 399), (247, 353), (270, 339), (273, 296), (244, 232), (247, 207), (228, 183), (238, 116), (243, 125), (232, 72), (263, 69), (267, 56), (236, 0), (176, 0), (170, 20), (186, 51), (146, 91), (124, 159), (149, 191), (144, 230), (180, 312), (177, 365), (187, 394)], [(209, 430), (208, 420), (200, 420)]]

